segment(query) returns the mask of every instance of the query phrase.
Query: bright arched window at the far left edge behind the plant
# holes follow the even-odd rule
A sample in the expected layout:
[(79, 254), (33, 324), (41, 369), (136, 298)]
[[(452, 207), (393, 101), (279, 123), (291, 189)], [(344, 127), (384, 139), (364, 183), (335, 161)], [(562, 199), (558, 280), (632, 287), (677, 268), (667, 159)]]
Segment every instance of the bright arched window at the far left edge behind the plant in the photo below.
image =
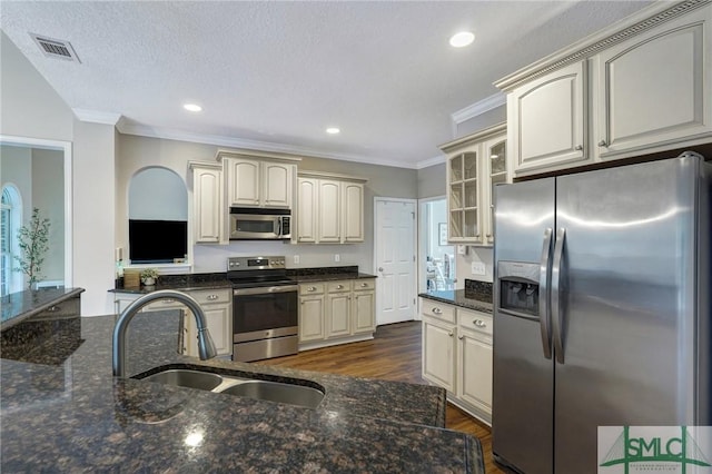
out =
[(22, 221), (20, 195), (12, 185), (2, 188), (0, 200), (0, 295), (4, 296), (21, 289), (21, 275), (12, 271), (17, 239), (14, 238)]

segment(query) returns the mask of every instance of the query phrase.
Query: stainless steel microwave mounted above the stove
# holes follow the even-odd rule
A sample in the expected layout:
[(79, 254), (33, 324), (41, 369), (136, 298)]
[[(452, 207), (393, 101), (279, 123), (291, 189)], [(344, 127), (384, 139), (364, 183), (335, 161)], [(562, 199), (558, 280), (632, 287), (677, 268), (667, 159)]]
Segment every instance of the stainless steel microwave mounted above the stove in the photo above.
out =
[(288, 240), (290, 209), (230, 208), (230, 240)]

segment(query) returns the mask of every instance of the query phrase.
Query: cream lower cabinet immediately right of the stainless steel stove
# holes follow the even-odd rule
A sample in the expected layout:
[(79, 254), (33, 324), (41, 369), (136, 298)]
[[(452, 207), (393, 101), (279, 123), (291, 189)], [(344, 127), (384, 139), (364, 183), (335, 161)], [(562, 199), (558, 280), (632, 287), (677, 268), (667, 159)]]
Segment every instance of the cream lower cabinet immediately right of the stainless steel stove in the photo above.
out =
[(375, 310), (373, 278), (299, 284), (299, 348), (370, 339)]

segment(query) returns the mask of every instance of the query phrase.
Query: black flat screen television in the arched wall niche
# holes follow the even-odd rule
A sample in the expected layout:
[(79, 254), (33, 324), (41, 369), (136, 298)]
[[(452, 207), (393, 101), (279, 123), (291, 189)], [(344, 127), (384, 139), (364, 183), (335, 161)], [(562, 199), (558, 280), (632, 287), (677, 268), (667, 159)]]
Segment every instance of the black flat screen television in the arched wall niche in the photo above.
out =
[(129, 219), (132, 264), (172, 264), (175, 258), (186, 258), (187, 254), (187, 221)]

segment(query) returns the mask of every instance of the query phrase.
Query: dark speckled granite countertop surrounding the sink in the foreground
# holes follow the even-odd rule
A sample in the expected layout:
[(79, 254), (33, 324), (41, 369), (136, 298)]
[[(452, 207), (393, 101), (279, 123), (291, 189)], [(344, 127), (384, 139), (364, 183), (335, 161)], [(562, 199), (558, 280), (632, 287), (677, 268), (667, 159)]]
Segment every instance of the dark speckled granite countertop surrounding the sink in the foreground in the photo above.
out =
[(444, 423), (442, 388), (179, 356), (180, 317), (135, 317), (130, 374), (188, 365), (306, 379), (324, 387), (323, 403), (309, 409), (113, 377), (116, 317), (76, 318), (81, 344), (69, 357), (0, 359), (0, 470), (484, 473), (477, 440), (427, 426)]

